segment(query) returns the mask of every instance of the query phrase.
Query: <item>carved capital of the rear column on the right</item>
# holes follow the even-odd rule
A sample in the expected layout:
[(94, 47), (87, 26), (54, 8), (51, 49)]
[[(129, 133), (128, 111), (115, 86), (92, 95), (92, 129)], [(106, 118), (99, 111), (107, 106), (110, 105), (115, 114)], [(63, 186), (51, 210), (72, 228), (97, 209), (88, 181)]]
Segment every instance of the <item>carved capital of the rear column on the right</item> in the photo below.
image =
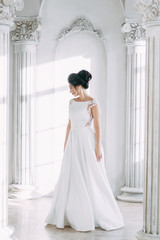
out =
[(140, 23), (124, 23), (121, 31), (124, 33), (126, 43), (136, 43), (146, 39), (146, 31)]

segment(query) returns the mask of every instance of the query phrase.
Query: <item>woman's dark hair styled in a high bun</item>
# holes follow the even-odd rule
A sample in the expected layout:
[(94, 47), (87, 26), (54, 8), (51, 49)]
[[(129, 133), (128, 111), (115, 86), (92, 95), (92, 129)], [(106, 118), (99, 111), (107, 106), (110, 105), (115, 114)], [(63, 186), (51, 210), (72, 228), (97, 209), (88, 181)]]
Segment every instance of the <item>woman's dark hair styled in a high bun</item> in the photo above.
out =
[(89, 87), (89, 81), (92, 79), (92, 75), (86, 71), (81, 70), (78, 73), (71, 73), (68, 77), (68, 82), (74, 87), (82, 85), (83, 88), (87, 89)]

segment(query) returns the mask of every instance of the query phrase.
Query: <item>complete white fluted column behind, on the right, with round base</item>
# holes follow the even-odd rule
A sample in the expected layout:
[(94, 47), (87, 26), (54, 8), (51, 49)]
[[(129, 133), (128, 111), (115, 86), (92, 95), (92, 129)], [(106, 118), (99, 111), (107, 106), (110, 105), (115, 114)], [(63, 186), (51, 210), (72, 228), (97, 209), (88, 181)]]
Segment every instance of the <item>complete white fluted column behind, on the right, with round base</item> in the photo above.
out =
[(139, 23), (122, 25), (127, 50), (125, 186), (117, 198), (143, 201), (145, 30)]

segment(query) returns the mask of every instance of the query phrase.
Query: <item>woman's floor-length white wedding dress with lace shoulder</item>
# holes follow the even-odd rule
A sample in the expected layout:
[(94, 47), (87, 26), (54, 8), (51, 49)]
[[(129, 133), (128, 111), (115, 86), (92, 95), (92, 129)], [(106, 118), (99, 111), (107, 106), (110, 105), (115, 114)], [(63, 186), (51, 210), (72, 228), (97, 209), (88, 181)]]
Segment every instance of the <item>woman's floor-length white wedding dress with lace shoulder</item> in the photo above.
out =
[(70, 100), (71, 129), (45, 220), (58, 228), (71, 226), (77, 231), (90, 231), (101, 227), (109, 231), (124, 226), (106, 176), (102, 146), (100, 161), (95, 154), (91, 107), (96, 104), (95, 99), (86, 102)]

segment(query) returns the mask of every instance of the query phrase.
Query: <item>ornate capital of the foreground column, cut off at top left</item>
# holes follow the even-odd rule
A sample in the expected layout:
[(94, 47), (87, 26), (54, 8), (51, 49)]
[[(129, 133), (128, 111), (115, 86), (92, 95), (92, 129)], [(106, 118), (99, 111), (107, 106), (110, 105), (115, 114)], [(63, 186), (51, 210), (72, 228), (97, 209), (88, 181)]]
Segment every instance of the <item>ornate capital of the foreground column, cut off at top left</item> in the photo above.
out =
[(12, 25), (15, 12), (23, 7), (23, 0), (0, 0), (0, 24)]

